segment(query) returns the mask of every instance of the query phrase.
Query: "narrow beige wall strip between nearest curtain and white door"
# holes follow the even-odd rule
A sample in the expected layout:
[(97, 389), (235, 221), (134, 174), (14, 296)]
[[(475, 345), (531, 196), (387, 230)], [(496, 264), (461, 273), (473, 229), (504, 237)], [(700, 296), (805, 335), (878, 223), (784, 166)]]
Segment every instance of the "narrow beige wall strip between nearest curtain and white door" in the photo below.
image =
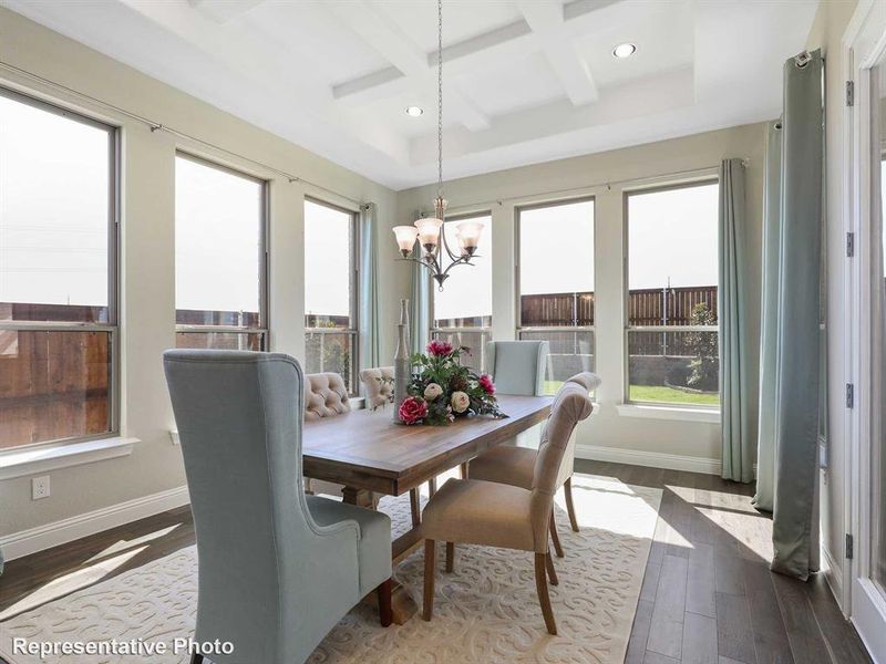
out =
[[(822, 473), (822, 543), (830, 564), (828, 571), (837, 601), (842, 601), (839, 589), (843, 575), (844, 494), (848, 479), (849, 440), (846, 437), (846, 408), (843, 367), (844, 344), (841, 322), (848, 315), (848, 302), (843, 298), (845, 255), (843, 247), (843, 117), (845, 58), (841, 46), (843, 33), (856, 7), (855, 0), (831, 0), (822, 2), (806, 42), (808, 49), (821, 48), (825, 58), (825, 183), (827, 226), (827, 320), (830, 321), (827, 371), (828, 371), (828, 463)], [(845, 609), (845, 608), (844, 608)]]

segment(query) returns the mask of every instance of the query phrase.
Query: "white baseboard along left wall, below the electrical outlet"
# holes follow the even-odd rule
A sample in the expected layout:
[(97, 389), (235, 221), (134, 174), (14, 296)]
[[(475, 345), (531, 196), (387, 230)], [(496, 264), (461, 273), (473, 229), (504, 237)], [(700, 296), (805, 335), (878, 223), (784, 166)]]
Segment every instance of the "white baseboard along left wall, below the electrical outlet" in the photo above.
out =
[(186, 486), (168, 489), (96, 509), (84, 515), (62, 519), (61, 521), (13, 532), (0, 538), (0, 550), (3, 551), (3, 558), (7, 561), (14, 560), (59, 544), (66, 544), (109, 528), (131, 523), (168, 509), (182, 507), (189, 501)]

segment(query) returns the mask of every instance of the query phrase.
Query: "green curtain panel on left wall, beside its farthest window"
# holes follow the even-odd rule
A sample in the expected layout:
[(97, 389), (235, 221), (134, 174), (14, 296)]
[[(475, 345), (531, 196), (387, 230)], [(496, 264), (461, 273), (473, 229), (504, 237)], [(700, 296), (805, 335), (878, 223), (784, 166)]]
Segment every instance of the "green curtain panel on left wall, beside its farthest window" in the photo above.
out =
[(378, 207), (360, 207), (360, 366), (381, 364)]

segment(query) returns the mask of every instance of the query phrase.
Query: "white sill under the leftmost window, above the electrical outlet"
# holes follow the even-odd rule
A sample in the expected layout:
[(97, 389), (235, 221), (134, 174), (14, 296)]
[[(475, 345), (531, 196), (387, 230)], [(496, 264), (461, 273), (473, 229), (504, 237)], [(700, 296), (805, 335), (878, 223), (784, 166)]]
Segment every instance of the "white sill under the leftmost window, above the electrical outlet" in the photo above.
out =
[(128, 456), (138, 442), (116, 436), (6, 452), (0, 454), (0, 480)]

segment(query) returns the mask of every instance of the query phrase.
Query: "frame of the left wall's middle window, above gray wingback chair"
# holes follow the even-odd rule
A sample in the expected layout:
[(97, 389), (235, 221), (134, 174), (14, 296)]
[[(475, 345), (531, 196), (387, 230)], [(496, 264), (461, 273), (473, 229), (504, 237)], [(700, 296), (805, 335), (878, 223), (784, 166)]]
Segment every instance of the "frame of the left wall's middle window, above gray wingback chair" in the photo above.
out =
[[(247, 180), (250, 180), (261, 188), (261, 200), (259, 203), (259, 211), (261, 215), (261, 222), (259, 224), (259, 267), (258, 267), (258, 280), (259, 280), (259, 295), (258, 295), (258, 319), (261, 323), (258, 328), (255, 326), (245, 326), (240, 328), (237, 325), (197, 325), (197, 324), (185, 324), (175, 323), (175, 334), (176, 339), (179, 333), (184, 334), (210, 334), (213, 332), (217, 332), (220, 334), (241, 334), (241, 335), (249, 335), (249, 334), (258, 334), (260, 339), (259, 349), (262, 352), (267, 352), (270, 347), (270, 298), (269, 298), (269, 280), (270, 280), (270, 266), (269, 266), (269, 249), (268, 242), (270, 238), (270, 184), (267, 179), (253, 175), (250, 173), (246, 173), (244, 170), (238, 170), (236, 168), (231, 168), (225, 164), (219, 164), (218, 162), (214, 162), (208, 159), (202, 155), (197, 155), (184, 149), (176, 149), (175, 151), (175, 159), (177, 158), (187, 159), (189, 162), (194, 162), (207, 168), (214, 168), (216, 170), (220, 170), (223, 173), (227, 173), (228, 175), (233, 175), (235, 177), (240, 177)], [(178, 220), (174, 219), (174, 222), (177, 224)], [(177, 257), (176, 257), (177, 258)], [(178, 303), (175, 303), (175, 318), (177, 319), (178, 312)], [(176, 344), (177, 345), (177, 344)]]

